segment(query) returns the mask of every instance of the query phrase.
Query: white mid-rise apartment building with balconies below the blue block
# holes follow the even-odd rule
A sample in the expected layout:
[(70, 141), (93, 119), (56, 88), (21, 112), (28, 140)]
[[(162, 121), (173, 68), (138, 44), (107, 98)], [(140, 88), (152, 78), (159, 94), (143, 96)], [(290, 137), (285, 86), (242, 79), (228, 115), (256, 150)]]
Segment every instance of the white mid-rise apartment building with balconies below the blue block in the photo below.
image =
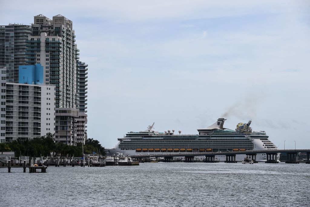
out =
[(6, 142), (55, 133), (55, 86), (6, 84)]

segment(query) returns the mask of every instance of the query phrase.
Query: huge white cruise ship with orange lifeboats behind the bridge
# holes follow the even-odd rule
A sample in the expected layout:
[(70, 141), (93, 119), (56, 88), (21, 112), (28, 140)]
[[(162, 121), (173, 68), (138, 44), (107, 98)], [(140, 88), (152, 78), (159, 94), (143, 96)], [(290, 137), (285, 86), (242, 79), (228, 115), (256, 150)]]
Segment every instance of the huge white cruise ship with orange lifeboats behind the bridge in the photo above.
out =
[[(238, 123), (235, 130), (224, 128), (227, 119), (219, 118), (209, 127), (197, 129), (198, 134), (186, 135), (175, 130), (154, 131), (154, 123), (147, 130), (128, 132), (118, 138), (117, 144), (108, 153), (121, 152), (128, 155), (180, 154), (206, 152), (232, 152), (247, 150), (277, 150), (265, 131), (252, 131), (251, 121)], [(236, 160), (242, 160), (245, 154), (237, 154)], [(278, 158), (280, 155), (278, 155)], [(225, 155), (218, 155), (218, 160), (226, 160)], [(266, 154), (257, 154), (256, 160), (266, 161)]]

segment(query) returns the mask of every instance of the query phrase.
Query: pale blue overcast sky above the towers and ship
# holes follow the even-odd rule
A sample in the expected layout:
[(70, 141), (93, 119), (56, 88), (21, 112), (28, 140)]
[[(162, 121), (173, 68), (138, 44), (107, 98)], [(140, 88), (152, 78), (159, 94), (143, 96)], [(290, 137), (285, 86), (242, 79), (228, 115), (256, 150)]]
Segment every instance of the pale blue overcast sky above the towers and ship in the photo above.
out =
[(309, 1), (1, 1), (0, 25), (61, 14), (88, 64), (88, 137), (252, 119), (279, 148), (310, 148)]

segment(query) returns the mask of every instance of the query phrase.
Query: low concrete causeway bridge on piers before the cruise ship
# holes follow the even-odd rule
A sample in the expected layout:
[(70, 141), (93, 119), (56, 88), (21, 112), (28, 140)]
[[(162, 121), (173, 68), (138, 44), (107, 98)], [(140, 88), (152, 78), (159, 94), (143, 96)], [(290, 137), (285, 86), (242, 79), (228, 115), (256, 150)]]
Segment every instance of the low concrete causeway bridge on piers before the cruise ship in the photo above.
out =
[[(232, 152), (203, 152), (203, 153), (163, 153), (163, 154), (152, 154), (153, 157), (164, 157), (165, 162), (171, 162), (174, 157), (185, 157), (185, 162), (193, 162), (195, 156), (206, 156), (206, 162), (216, 162), (216, 155), (226, 155), (227, 163), (236, 163), (236, 155), (237, 154), (246, 154), (252, 156), (252, 160), (256, 161), (257, 154), (266, 154), (267, 163), (278, 163), (277, 154), (278, 153), (286, 153), (286, 163), (299, 163), (297, 160), (297, 154), (300, 152), (307, 153), (306, 163), (310, 163), (310, 150), (309, 149), (296, 149), (296, 150), (254, 150), (254, 151), (232, 151)], [(150, 154), (143, 155), (133, 155), (132, 158), (142, 159), (150, 157)]]

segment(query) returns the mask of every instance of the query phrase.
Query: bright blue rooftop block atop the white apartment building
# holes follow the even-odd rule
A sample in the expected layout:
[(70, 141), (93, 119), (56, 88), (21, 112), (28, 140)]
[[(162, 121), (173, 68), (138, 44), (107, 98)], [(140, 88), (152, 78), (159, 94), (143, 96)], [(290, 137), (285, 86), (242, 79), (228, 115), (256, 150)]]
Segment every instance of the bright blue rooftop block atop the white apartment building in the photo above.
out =
[(18, 83), (43, 84), (43, 66), (41, 66), (41, 64), (21, 65), (18, 71)]

